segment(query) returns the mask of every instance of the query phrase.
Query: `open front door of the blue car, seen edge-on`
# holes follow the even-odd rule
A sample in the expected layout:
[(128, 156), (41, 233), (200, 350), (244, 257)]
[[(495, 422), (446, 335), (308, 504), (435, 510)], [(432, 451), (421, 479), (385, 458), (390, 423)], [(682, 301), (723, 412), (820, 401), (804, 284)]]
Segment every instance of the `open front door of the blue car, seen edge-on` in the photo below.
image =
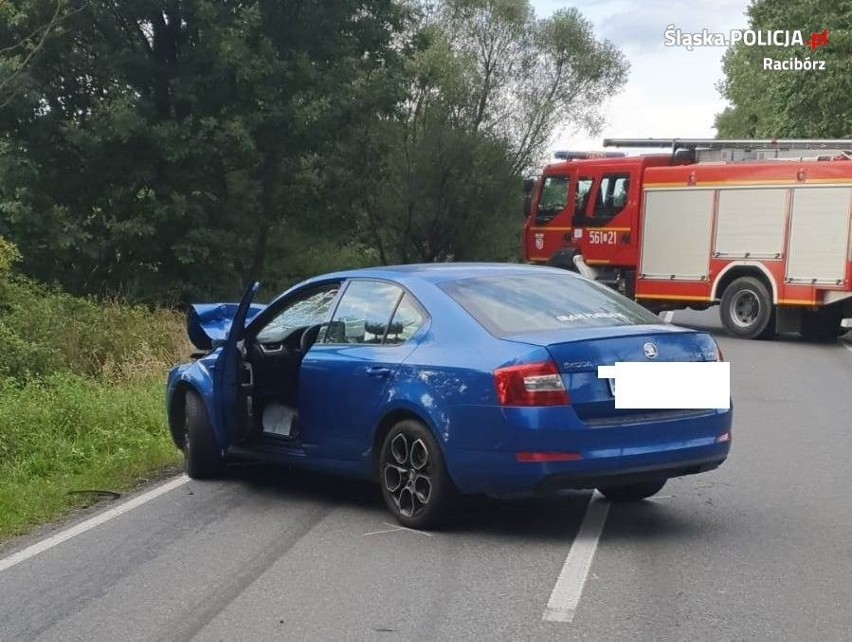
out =
[(258, 289), (258, 281), (252, 281), (246, 288), (214, 366), (213, 398), (218, 424), (225, 436), (225, 448), (241, 441), (246, 434), (246, 397), (253, 382), (251, 370), (244, 366), (242, 339), (251, 302)]

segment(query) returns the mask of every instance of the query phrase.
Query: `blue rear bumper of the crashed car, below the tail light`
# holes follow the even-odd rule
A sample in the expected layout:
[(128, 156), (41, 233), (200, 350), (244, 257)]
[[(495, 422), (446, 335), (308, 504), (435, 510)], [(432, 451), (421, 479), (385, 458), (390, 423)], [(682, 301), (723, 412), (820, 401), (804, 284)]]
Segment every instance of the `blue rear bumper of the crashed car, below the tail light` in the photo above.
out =
[[(465, 494), (528, 496), (692, 475), (720, 466), (733, 411), (580, 421), (563, 407), (457, 414), (444, 454)], [(518, 453), (568, 453), (566, 461), (518, 461)]]

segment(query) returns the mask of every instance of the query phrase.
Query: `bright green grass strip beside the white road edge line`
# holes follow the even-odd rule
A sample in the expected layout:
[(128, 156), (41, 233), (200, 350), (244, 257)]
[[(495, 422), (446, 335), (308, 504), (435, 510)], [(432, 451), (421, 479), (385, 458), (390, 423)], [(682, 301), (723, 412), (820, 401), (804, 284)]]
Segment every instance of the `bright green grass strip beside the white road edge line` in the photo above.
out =
[(163, 380), (121, 384), (56, 375), (0, 389), (0, 539), (93, 497), (124, 491), (180, 461), (163, 410)]

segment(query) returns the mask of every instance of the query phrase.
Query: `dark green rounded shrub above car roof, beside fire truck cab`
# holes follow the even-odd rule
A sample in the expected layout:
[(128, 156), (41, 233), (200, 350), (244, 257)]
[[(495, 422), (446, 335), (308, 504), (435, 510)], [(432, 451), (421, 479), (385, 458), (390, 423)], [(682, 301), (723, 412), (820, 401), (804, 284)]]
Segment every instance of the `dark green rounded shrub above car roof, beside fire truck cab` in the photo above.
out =
[(400, 144), (363, 220), (379, 262), (511, 258), (520, 183), (505, 144), (455, 125), (440, 103), (389, 127), (389, 136)]

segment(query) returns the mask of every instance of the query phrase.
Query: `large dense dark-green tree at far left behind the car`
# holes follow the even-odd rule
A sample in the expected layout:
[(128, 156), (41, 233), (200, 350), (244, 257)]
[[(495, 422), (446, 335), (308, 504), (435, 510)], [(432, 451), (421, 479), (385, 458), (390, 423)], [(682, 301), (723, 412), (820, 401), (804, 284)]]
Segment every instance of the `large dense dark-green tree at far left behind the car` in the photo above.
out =
[[(48, 2), (26, 1), (0, 47)], [(404, 20), (391, 0), (84, 5), (0, 109), (0, 234), (72, 291), (233, 295), (276, 228), (354, 224), (328, 185), (367, 171), (359, 139), (404, 95)]]

